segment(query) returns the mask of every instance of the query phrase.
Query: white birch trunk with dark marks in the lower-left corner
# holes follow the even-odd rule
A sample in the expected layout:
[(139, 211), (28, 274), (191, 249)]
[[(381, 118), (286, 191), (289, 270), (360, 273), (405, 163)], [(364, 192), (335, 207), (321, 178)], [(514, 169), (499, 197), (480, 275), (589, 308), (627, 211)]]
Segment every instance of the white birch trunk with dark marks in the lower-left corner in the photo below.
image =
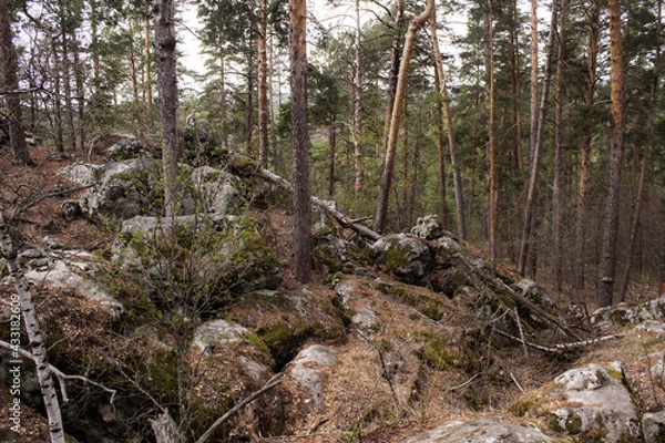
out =
[[(0, 0), (0, 11), (3, 1), (4, 0)], [(62, 414), (60, 412), (58, 393), (49, 365), (45, 342), (39, 329), (39, 319), (37, 317), (34, 303), (32, 302), (32, 295), (30, 293), (28, 282), (23, 278), (23, 272), (18, 261), (17, 250), (13, 247), (2, 213), (0, 213), (0, 247), (2, 248), (2, 256), (7, 260), (7, 269), (9, 270), (9, 275), (17, 290), (25, 333), (28, 334), (28, 340), (30, 342), (30, 350), (32, 356), (34, 356), (33, 361), (37, 370), (37, 378), (39, 380), (42, 399), (44, 401), (44, 409), (47, 410), (47, 418), (49, 420), (51, 443), (64, 443)]]

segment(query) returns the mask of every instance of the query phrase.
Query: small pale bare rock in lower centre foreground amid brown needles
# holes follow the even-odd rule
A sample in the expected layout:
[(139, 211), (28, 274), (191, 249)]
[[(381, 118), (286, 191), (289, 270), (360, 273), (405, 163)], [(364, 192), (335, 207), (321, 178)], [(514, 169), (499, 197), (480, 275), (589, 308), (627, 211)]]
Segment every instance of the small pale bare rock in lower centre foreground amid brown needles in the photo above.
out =
[(339, 360), (324, 346), (313, 344), (301, 350), (293, 362), (290, 377), (306, 392), (308, 403), (314, 412), (324, 412), (324, 388), (321, 385), (321, 367), (331, 367)]

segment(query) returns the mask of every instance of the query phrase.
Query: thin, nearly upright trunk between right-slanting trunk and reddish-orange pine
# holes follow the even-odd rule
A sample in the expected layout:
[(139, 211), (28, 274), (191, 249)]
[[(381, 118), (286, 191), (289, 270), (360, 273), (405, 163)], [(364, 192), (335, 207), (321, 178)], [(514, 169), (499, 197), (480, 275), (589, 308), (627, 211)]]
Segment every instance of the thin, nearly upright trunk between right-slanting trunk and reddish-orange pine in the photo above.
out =
[(554, 181), (552, 183), (552, 278), (554, 289), (562, 289), (562, 226), (563, 226), (563, 194), (561, 192), (563, 175), (563, 70), (565, 68), (565, 21), (567, 17), (566, 0), (561, 1), (559, 16), (559, 53), (556, 59), (556, 110), (554, 123)]

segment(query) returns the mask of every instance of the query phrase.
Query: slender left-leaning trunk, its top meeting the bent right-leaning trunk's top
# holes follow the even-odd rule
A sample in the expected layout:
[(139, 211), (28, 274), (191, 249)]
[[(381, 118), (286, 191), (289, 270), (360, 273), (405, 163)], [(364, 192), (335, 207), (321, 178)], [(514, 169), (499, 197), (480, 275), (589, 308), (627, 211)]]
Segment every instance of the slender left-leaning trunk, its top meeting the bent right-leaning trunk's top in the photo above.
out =
[[(441, 94), (443, 112), (446, 115), (446, 132), (448, 134), (448, 146), (450, 148), (450, 167), (452, 168), (452, 185), (454, 190), (458, 235), (462, 240), (466, 240), (467, 220), (464, 219), (464, 190), (462, 187), (462, 175), (457, 159), (457, 143), (454, 141), (454, 133), (452, 131), (452, 112), (450, 110), (450, 102), (448, 100), (448, 86), (446, 84), (443, 60), (441, 58), (441, 51), (439, 49), (439, 39), (437, 38), (436, 12), (430, 19), (430, 31), (432, 33), (432, 47), (434, 50), (436, 71), (438, 73), (437, 76), (439, 79), (439, 85), (437, 86), (437, 89)], [(441, 105), (441, 101), (439, 101), (439, 105)], [(442, 153), (440, 152), (439, 155), (442, 155)], [(441, 163), (439, 163), (439, 165), (441, 165)], [(446, 177), (441, 178), (443, 183), (444, 179)], [(446, 204), (446, 202), (443, 202), (443, 204)]]

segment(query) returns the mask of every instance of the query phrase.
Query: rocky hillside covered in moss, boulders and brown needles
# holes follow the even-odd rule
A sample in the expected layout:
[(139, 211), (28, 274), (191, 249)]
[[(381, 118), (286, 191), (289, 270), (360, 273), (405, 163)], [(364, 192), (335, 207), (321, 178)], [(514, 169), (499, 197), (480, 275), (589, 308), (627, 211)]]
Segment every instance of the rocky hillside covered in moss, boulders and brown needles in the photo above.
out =
[[(105, 150), (119, 143), (127, 144), (119, 135), (100, 141), (88, 164), (106, 163)], [(591, 433), (557, 429), (551, 414), (536, 413), (540, 406), (524, 399), (545, 392), (539, 390), (571, 368), (615, 361), (623, 364), (622, 382), (637, 415), (663, 410), (659, 299), (648, 315), (613, 310), (592, 326), (584, 307), (518, 279), (508, 267), (491, 276), (479, 248), (427, 219), (429, 234), (375, 243), (321, 212), (315, 213), (314, 282), (301, 287), (291, 272), (290, 198), (231, 157), (215, 171), (201, 169), (206, 179), (224, 181), (211, 198), (221, 188), (237, 189), (214, 202), (224, 205), (224, 215), (198, 220), (196, 213), (193, 225), (161, 222), (164, 231), (144, 236), (150, 228), (142, 209), (158, 207), (149, 202), (150, 190), (131, 217), (115, 217), (115, 207), (103, 219), (68, 219), (61, 205), (91, 195), (58, 174), (79, 158), (42, 146), (31, 155), (37, 166), (19, 168), (0, 152), (0, 200), (23, 251), (50, 361), (115, 391), (111, 396), (68, 381), (63, 412), (72, 440), (153, 441), (150, 420), (168, 409), (185, 439), (195, 441), (280, 373), (275, 389), (211, 441), (406, 442), (447, 422), (484, 418), (533, 423), (552, 441), (613, 441), (612, 431), (597, 426)], [(152, 167), (152, 159), (145, 162), (139, 169)], [(122, 171), (117, 181), (135, 178)], [(200, 192), (194, 200), (207, 197)], [(120, 202), (123, 212), (133, 208)], [(140, 230), (125, 218), (142, 222)], [(2, 269), (7, 308), (13, 285)], [(4, 340), (7, 310), (3, 316)], [(19, 434), (0, 418), (2, 441), (48, 441), (28, 367), (21, 395), (30, 408)], [(12, 395), (1, 369), (6, 411)], [(646, 434), (643, 424), (622, 441), (649, 441)], [(418, 441), (436, 441), (430, 439)], [(498, 441), (535, 441), (515, 439)]]

